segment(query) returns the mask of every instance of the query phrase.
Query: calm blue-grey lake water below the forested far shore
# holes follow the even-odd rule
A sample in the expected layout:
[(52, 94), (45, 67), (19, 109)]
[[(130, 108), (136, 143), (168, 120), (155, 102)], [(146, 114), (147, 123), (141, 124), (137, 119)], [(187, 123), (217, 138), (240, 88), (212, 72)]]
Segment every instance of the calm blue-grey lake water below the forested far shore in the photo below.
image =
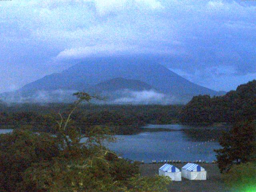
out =
[[(117, 142), (108, 144), (108, 147), (124, 158), (144, 162), (216, 160), (213, 150), (220, 148), (220, 145), (210, 134), (202, 139), (200, 135), (204, 135), (204, 129), (198, 128), (196, 130), (199, 135), (190, 136), (186, 130), (193, 128), (178, 124), (148, 125), (145, 128), (152, 131), (136, 135), (116, 135)], [(154, 128), (158, 128), (158, 131), (154, 132)], [(170, 131), (159, 131), (159, 128)], [(0, 133), (11, 131), (0, 130)]]

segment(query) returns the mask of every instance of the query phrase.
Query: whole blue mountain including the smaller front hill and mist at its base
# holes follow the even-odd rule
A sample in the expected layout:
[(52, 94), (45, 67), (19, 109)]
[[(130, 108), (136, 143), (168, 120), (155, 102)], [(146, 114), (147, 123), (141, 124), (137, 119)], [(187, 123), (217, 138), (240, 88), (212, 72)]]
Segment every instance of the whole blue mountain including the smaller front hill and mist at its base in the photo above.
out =
[(186, 103), (193, 96), (222, 92), (194, 84), (154, 60), (94, 58), (54, 73), (16, 92), (0, 94), (9, 102), (70, 102), (72, 93), (101, 93), (112, 101), (130, 103)]

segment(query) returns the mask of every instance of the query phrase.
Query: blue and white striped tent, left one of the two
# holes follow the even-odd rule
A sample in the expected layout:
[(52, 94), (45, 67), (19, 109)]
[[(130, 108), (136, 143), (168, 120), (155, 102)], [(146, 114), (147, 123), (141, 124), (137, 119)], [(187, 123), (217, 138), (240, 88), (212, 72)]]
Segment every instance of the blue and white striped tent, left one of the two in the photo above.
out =
[(181, 172), (176, 166), (164, 164), (159, 168), (159, 175), (168, 176), (173, 181), (181, 181)]

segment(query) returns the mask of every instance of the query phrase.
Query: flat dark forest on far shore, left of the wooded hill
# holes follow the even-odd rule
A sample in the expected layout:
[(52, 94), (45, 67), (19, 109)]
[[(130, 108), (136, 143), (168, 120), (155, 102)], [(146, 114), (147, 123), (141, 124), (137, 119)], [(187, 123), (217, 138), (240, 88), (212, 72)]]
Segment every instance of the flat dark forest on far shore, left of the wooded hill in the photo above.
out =
[[(2, 104), (0, 128), (26, 128), (32, 131), (52, 132), (58, 112), (64, 113), (70, 104)], [(82, 132), (90, 126), (109, 126), (116, 134), (134, 134), (145, 124), (178, 122), (182, 106), (162, 105), (83, 105), (72, 116), (72, 125)]]

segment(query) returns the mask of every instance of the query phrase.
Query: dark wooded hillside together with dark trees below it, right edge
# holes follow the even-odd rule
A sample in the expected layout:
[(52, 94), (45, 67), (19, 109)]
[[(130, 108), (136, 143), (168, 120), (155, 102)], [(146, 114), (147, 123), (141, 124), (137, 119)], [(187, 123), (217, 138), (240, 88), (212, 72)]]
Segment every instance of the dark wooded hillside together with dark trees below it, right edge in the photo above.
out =
[[(231, 173), (224, 175), (230, 184), (238, 180), (237, 176), (245, 178), (245, 172), (236, 171), (244, 168), (244, 164), (250, 167), (248, 172), (256, 167), (256, 80), (242, 84), (224, 96), (195, 96), (182, 110), (180, 121), (197, 125), (216, 122), (231, 125), (230, 130), (223, 132), (218, 139), (222, 148), (214, 150), (220, 171)], [(230, 178), (234, 173), (237, 175)], [(251, 175), (256, 178), (255, 173)]]

